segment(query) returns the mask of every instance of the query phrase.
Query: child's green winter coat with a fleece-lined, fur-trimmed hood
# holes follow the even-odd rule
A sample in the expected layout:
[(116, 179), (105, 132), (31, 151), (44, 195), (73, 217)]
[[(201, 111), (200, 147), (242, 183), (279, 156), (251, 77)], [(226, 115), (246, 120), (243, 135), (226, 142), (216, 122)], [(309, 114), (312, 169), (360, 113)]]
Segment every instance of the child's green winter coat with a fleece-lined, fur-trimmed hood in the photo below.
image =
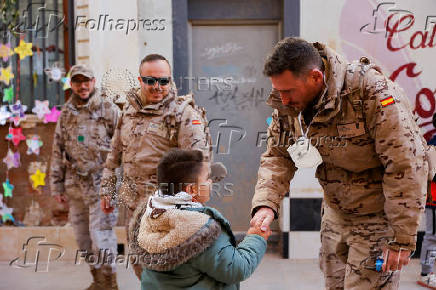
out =
[(142, 206), (130, 225), (137, 241), (130, 246), (142, 250), (142, 289), (239, 289), (265, 254), (258, 235), (236, 246), (230, 223), (216, 209), (174, 209), (157, 219), (144, 212)]

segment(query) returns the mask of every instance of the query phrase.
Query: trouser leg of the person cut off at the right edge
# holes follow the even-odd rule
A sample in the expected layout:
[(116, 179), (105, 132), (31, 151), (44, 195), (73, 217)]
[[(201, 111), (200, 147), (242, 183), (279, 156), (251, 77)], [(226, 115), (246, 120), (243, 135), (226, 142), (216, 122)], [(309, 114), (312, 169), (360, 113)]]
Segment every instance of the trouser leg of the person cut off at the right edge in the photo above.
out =
[(421, 248), (422, 273), (433, 272), (436, 259), (436, 209), (425, 209), (425, 235)]

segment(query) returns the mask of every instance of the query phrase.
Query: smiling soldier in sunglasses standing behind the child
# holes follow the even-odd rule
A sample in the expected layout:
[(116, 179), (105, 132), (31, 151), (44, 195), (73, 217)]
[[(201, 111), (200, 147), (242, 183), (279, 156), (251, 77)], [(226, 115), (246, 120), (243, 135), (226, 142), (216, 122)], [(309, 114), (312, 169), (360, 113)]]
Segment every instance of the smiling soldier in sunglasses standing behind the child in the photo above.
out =
[[(100, 192), (102, 207), (110, 212), (109, 199), (114, 198), (117, 182), (115, 169), (122, 165), (117, 199), (133, 222), (140, 214), (135, 214), (135, 209), (157, 189), (157, 164), (165, 152), (175, 147), (197, 149), (210, 161), (212, 150), (206, 113), (195, 106), (191, 95), (177, 96), (168, 61), (158, 54), (148, 55), (141, 61), (139, 73), (141, 88), (127, 94), (128, 104), (115, 129)], [(126, 226), (130, 244), (135, 241)], [(134, 254), (132, 249), (129, 254)], [(134, 264), (133, 268), (141, 279), (142, 267)]]

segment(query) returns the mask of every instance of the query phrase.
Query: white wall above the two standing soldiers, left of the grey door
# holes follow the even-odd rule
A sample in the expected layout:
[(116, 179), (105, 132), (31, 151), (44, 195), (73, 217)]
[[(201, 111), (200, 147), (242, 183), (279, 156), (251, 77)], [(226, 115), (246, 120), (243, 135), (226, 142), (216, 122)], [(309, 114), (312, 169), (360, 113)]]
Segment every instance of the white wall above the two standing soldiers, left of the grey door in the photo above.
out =
[[(134, 77), (138, 75), (141, 59), (149, 53), (160, 53), (172, 62), (172, 19), (171, 0), (93, 0), (78, 1), (75, 22), (86, 22), (86, 27), (76, 30), (76, 51), (78, 55), (89, 55), (76, 59), (88, 63), (95, 71), (97, 86), (109, 69), (128, 69)], [(88, 5), (87, 9), (77, 9)], [(87, 10), (87, 11), (83, 11)], [(79, 17), (78, 16), (85, 16)], [(103, 28), (104, 19), (106, 24)], [(100, 26), (98, 21), (100, 19)], [(113, 19), (110, 29), (109, 19)], [(153, 20), (163, 19), (161, 22)], [(130, 20), (130, 22), (129, 22)], [(116, 26), (117, 21), (119, 25)], [(145, 24), (146, 23), (146, 24)], [(145, 25), (144, 25), (145, 24)], [(154, 29), (157, 28), (157, 29)], [(77, 43), (89, 36), (89, 44)], [(146, 43), (146, 44), (144, 44)]]

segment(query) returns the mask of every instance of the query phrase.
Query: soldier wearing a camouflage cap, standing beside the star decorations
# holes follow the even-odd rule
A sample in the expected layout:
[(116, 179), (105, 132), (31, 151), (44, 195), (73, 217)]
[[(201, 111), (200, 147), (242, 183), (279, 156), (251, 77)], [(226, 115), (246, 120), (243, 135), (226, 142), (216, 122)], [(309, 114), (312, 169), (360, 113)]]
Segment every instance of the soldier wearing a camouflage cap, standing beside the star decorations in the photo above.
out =
[[(119, 109), (94, 88), (93, 72), (71, 68), (72, 96), (58, 119), (50, 166), (51, 193), (58, 202), (68, 200), (70, 222), (80, 250), (117, 254), (113, 230), (118, 211), (100, 208), (100, 181), (110, 152)], [(115, 264), (90, 265), (94, 281), (88, 289), (118, 289)]]

